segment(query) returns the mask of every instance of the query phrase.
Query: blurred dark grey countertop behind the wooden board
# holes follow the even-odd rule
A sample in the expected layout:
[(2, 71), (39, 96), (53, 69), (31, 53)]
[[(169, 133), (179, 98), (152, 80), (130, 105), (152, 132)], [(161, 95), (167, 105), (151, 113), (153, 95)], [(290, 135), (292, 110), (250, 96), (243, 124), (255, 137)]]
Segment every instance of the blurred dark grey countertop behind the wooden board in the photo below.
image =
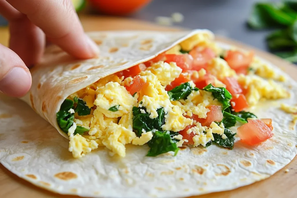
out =
[[(154, 0), (147, 7), (129, 16), (154, 22), (156, 16), (170, 16), (173, 12), (184, 15), (185, 28), (206, 28), (241, 41), (261, 50), (267, 50), (265, 35), (268, 31), (253, 31), (246, 21), (252, 6), (259, 0)], [(6, 21), (0, 16), (0, 26)]]

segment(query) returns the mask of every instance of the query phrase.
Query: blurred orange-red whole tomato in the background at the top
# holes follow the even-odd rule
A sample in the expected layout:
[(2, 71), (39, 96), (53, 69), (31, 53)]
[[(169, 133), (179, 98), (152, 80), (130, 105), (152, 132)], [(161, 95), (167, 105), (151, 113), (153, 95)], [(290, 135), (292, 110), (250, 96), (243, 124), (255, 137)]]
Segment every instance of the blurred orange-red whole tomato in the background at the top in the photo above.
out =
[(151, 0), (89, 0), (91, 7), (110, 15), (128, 15), (146, 6)]

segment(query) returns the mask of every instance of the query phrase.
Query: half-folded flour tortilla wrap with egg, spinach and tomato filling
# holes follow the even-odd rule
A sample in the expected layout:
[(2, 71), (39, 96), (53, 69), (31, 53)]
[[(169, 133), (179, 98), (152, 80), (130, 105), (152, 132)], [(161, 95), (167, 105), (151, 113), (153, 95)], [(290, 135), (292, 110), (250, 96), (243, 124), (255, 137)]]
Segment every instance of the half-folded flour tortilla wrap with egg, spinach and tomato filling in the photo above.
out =
[[(248, 185), (295, 157), (297, 84), (252, 51), (208, 30), (89, 35), (97, 58), (50, 46), (31, 71), (22, 100), (55, 129), (31, 127), (33, 143), (14, 147), (21, 124), (7, 129), (0, 160), (20, 177), (61, 194), (186, 197)], [(13, 161), (20, 150), (25, 164)]]

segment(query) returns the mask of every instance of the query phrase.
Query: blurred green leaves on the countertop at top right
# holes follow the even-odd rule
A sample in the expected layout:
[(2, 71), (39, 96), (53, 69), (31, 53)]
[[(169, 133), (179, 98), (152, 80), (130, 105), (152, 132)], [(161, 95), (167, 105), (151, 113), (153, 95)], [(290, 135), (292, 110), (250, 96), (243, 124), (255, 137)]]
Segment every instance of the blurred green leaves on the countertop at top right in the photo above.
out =
[(277, 28), (266, 37), (269, 49), (277, 56), (297, 63), (297, 0), (255, 4), (248, 25), (257, 30)]

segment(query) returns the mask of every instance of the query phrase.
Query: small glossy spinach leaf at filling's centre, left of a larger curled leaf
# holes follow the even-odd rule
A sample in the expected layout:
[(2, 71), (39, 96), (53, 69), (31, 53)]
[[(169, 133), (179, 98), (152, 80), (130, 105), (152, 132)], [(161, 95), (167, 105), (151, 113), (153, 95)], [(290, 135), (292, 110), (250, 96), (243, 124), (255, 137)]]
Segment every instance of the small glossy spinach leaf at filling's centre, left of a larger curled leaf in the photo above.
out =
[(170, 100), (176, 101), (179, 99), (186, 99), (192, 92), (192, 90), (198, 91), (198, 88), (192, 88), (190, 83), (183, 83), (176, 86), (171, 91), (168, 91)]

